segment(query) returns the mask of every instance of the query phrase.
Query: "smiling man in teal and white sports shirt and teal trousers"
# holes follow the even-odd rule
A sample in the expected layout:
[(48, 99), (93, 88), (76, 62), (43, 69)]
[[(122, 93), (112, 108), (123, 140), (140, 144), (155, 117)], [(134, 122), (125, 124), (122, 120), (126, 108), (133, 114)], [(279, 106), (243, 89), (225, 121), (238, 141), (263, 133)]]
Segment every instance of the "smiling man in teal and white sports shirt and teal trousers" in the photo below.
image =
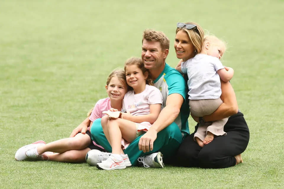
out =
[[(183, 137), (189, 134), (188, 116), (189, 107), (186, 102), (186, 84), (182, 75), (166, 64), (165, 60), (169, 53), (170, 40), (163, 32), (154, 30), (145, 30), (142, 39), (141, 58), (146, 69), (154, 79), (154, 86), (157, 87), (164, 99), (164, 109), (159, 114), (157, 120), (153, 123), (149, 131), (136, 138), (125, 150), (132, 165), (137, 163), (138, 157), (144, 166), (151, 166), (151, 159), (160, 153), (146, 156), (153, 152), (160, 151), (164, 155), (164, 162), (170, 163), (174, 158), (174, 153), (180, 146)], [(87, 129), (86, 119), (71, 134), (84, 133)], [(107, 142), (101, 128), (100, 119), (93, 122), (92, 139), (107, 151), (111, 151), (111, 146)], [(99, 155), (98, 155), (99, 156)], [(144, 156), (144, 157), (143, 157)], [(148, 158), (147, 158), (148, 157)], [(99, 157), (98, 161), (99, 161)], [(147, 160), (148, 159), (148, 160)], [(149, 161), (150, 159), (150, 161)], [(161, 162), (158, 162), (163, 167)]]

